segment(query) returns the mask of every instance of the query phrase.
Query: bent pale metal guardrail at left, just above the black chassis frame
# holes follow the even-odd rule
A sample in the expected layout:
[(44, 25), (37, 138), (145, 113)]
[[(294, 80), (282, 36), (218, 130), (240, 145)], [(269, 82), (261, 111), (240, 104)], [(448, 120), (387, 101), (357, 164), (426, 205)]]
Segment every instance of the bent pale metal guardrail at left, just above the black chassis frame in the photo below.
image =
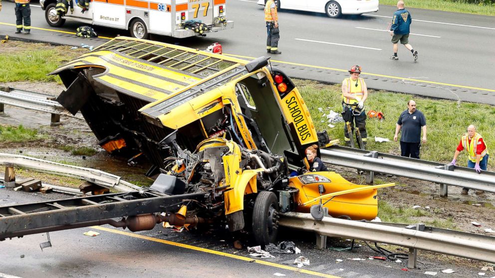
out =
[(106, 188), (115, 188), (122, 192), (141, 190), (141, 187), (124, 181), (121, 177), (101, 170), (66, 165), (24, 155), (0, 153), (0, 165), (17, 166), (50, 174), (75, 177)]

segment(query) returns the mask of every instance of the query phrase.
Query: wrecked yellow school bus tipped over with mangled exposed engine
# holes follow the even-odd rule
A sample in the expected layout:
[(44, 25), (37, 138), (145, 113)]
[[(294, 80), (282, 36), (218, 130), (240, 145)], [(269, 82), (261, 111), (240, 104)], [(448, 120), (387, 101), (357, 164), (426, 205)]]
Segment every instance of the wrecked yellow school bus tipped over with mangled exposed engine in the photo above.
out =
[[(159, 174), (150, 188), (117, 200), (163, 202), (143, 209), (152, 201), (138, 200), (141, 207), (121, 212), (127, 219), (101, 222), (110, 216), (102, 214), (86, 224), (98, 219), (139, 231), (160, 222), (222, 221), (267, 244), (276, 239), (280, 212), (311, 210), (319, 218), (325, 207), (333, 217), (371, 220), (377, 188), (393, 185), (357, 185), (329, 171), (290, 173), (289, 165), (308, 168), (308, 146), (329, 139), (315, 131), (294, 83), (265, 57), (248, 62), (117, 37), (51, 74), (67, 88), (57, 101), (81, 112), (105, 150), (130, 161), (144, 155), (154, 165), (147, 174)], [(95, 198), (84, 202), (88, 213), (107, 205)]]

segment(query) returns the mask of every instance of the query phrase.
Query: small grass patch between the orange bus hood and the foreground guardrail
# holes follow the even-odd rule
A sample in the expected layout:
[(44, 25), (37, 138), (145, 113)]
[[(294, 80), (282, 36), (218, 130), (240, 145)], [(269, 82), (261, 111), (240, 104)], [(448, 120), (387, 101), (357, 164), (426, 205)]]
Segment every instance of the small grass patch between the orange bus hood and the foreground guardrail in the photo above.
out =
[(432, 226), (443, 229), (456, 229), (454, 219), (435, 218), (436, 211), (426, 211), (423, 209), (413, 209), (411, 207), (394, 207), (391, 204), (378, 201), (378, 217), (382, 222), (415, 224), (424, 223), (426, 226)]

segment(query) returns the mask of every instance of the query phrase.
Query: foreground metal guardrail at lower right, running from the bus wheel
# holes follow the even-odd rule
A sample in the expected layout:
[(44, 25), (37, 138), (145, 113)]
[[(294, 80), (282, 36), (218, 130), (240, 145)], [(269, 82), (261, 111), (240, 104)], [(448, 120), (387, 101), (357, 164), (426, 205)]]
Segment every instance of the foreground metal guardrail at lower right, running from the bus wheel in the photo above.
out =
[[(404, 224), (360, 222), (330, 217), (316, 221), (310, 214), (297, 212), (281, 214), (279, 225), (315, 232), (325, 236), (325, 242), (326, 236), (329, 236), (407, 247), (410, 249), (408, 264), (416, 261), (414, 255), (417, 249), (495, 263), (495, 237), (490, 236), (431, 227), (424, 227), (422, 230), (406, 229)], [(411, 258), (411, 255), (414, 258)]]

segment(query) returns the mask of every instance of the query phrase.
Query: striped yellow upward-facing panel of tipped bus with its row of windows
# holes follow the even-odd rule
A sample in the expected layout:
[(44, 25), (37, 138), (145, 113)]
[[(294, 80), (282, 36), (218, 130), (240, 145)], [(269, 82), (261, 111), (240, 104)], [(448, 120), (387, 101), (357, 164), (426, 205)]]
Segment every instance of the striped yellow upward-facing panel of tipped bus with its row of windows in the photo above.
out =
[[(233, 70), (248, 61), (198, 49), (130, 37), (116, 37), (50, 74), (99, 67), (93, 79), (123, 94), (159, 104)], [(217, 78), (219, 79), (219, 78)], [(215, 83), (215, 82), (213, 82)], [(202, 86), (205, 87), (205, 86)], [(151, 104), (153, 103), (153, 104)]]

